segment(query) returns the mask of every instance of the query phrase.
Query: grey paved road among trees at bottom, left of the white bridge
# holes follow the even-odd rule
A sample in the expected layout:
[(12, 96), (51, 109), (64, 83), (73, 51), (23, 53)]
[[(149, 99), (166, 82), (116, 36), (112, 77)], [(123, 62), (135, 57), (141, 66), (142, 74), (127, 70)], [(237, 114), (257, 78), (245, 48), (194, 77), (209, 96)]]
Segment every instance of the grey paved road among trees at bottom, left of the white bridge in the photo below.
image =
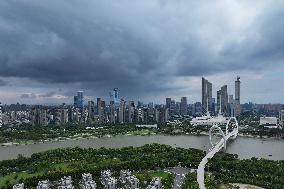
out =
[(184, 182), (185, 175), (190, 172), (190, 169), (184, 167), (173, 167), (167, 168), (165, 171), (175, 174), (173, 189), (180, 189)]

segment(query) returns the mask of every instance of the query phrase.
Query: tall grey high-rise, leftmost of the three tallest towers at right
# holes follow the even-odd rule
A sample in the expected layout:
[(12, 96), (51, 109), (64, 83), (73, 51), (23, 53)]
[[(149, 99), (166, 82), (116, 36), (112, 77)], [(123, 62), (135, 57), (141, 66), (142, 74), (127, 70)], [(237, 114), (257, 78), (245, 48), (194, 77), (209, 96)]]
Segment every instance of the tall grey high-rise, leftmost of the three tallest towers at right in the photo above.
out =
[(202, 108), (211, 111), (212, 109), (212, 83), (202, 77)]

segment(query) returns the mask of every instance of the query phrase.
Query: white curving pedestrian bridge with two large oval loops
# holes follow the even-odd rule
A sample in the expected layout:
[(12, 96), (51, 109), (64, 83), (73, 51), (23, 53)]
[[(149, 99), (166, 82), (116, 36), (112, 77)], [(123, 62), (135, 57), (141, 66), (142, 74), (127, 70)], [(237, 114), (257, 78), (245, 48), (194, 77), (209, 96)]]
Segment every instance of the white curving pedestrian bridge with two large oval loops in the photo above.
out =
[[(238, 136), (239, 125), (235, 117), (231, 117), (226, 124), (226, 132), (224, 133), (222, 129), (213, 125), (209, 130), (209, 138), (212, 145), (210, 151), (206, 156), (201, 160), (198, 169), (197, 169), (197, 182), (200, 189), (206, 189), (204, 183), (204, 168), (208, 163), (208, 160), (211, 159), (217, 152), (222, 149), (226, 150), (226, 143), (228, 139), (235, 139)], [(218, 141), (214, 141), (215, 137), (219, 137)]]

